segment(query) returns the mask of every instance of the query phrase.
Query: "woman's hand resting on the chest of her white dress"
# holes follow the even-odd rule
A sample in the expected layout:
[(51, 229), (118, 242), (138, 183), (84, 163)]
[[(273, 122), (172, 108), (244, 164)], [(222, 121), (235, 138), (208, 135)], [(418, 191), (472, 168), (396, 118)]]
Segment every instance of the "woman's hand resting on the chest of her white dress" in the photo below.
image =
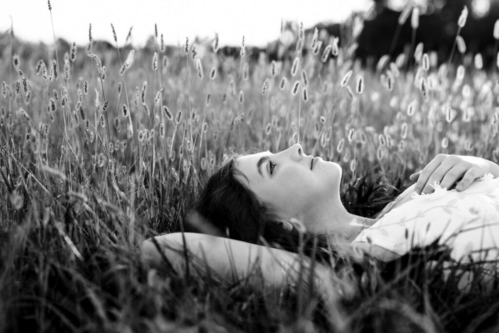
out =
[(427, 194), (434, 191), (434, 182), (440, 182), (440, 186), (448, 190), (457, 185), (456, 190), (463, 191), (475, 178), (489, 172), (498, 177), (499, 166), (480, 157), (438, 154), (423, 170), (409, 178), (416, 182), (414, 192)]

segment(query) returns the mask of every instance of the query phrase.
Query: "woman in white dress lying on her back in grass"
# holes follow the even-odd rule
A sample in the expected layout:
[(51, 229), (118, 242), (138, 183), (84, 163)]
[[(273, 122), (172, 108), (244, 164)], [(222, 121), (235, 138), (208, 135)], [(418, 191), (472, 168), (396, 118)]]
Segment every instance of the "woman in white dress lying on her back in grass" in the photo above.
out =
[[(451, 260), (469, 255), (492, 261), (499, 253), (499, 179), (493, 179), (498, 176), (499, 166), (491, 161), (439, 154), (411, 175), (416, 183), (377, 218), (365, 218), (347, 212), (340, 201), (339, 165), (305, 155), (299, 144), (277, 154), (235, 156), (210, 177), (196, 207), (231, 239), (168, 234), (156, 237), (157, 242), (146, 240), (142, 253), (152, 265), (162, 265), (165, 255), (181, 268), (184, 257), (176, 250), (185, 243), (224, 277), (247, 277), (256, 264), (274, 285), (296, 276), (293, 272), (303, 264), (296, 254), (300, 244), (305, 254), (319, 259), (314, 271), (322, 282), (328, 265), (320, 247), (331, 243), (349, 244), (382, 261), (435, 244), (452, 249)], [(299, 229), (306, 231), (305, 242), (300, 243)], [(318, 251), (309, 246), (312, 242)], [(487, 255), (482, 248), (489, 248)]]

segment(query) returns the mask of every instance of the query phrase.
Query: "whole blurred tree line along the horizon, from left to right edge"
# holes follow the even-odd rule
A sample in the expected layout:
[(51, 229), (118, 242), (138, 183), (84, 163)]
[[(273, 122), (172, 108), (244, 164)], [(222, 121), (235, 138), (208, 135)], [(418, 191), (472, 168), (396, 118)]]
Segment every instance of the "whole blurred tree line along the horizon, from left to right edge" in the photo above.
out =
[[(485, 1), (485, 2), (484, 2)], [(340, 36), (339, 44), (341, 46), (345, 37), (345, 31), (348, 30), (347, 25), (351, 24), (355, 16), (363, 17), (363, 29), (357, 37), (358, 47), (356, 56), (362, 59), (364, 64), (373, 65), (384, 54), (389, 54), (392, 59), (402, 52), (408, 54), (413, 36), (411, 27), (411, 17), (409, 16), (406, 22), (399, 26), (398, 20), (403, 6), (401, 0), (374, 0), (374, 6), (368, 13), (354, 13), (346, 22), (339, 24), (317, 24), (316, 27), (322, 32), (320, 37), (324, 44), (331, 42), (331, 36)], [(453, 47), (456, 33), (458, 29), (457, 21), (466, 5), (470, 14), (467, 23), (461, 31), (466, 46), (467, 53), (476, 54), (482, 53), (485, 66), (495, 66), (498, 50), (498, 41), (494, 39), (493, 30), (496, 20), (499, 18), (499, 1), (498, 0), (409, 0), (408, 4), (417, 3), (421, 9), (419, 17), (419, 27), (415, 34), (415, 44), (424, 43), (425, 51), (435, 50), (438, 52), (439, 62), (446, 61)], [(481, 14), (476, 13), (477, 3), (486, 4), (488, 9)], [(399, 3), (399, 5), (394, 5)], [(414, 4), (414, 3), (413, 3)], [(481, 7), (483, 9), (483, 6)], [(296, 22), (285, 22), (284, 30), (291, 31), (292, 35), (297, 33)], [(315, 27), (306, 29), (307, 35), (313, 33)], [(397, 31), (399, 30), (399, 31)], [(132, 32), (133, 33), (133, 32)], [(325, 37), (324, 37), (325, 36)], [(264, 53), (267, 60), (283, 60), (292, 58), (292, 52), (295, 47), (295, 38), (293, 42), (283, 46), (282, 40), (269, 42), (267, 47), (258, 48), (248, 46), (248, 57), (257, 61), (260, 54)], [(200, 45), (205, 48), (211, 48), (211, 40), (196, 39)], [(12, 45), (10, 45), (12, 43)], [(191, 43), (193, 44), (193, 43)], [(89, 53), (87, 45), (80, 46), (80, 58), (86, 58), (86, 53)], [(43, 43), (27, 43), (18, 40), (15, 35), (9, 31), (0, 34), (0, 56), (5, 52), (15, 50), (21, 59), (29, 59), (30, 62), (37, 62), (38, 59), (44, 59), (47, 63), (50, 59), (55, 58), (53, 45), (45, 45)], [(57, 40), (57, 49), (64, 52), (69, 50), (70, 43), (63, 39)], [(123, 47), (120, 45), (120, 48)], [(126, 44), (122, 49), (122, 57), (125, 57), (130, 44)], [(238, 57), (239, 46), (223, 46), (219, 54), (223, 57)], [(157, 49), (156, 38), (151, 36), (142, 48), (145, 51), (143, 54), (149, 57), (149, 53)], [(307, 52), (305, 47), (304, 52)], [(100, 54), (102, 61), (106, 65), (119, 64), (115, 45), (107, 41), (95, 41), (93, 44), (93, 52)], [(183, 56), (183, 51), (177, 46), (166, 46), (165, 54), (167, 56), (180, 55)], [(139, 55), (140, 57), (140, 55)], [(4, 57), (5, 58), (5, 57)], [(8, 58), (8, 57), (7, 57)], [(148, 59), (148, 58), (147, 58)], [(82, 59), (81, 59), (82, 60)], [(81, 61), (80, 60), (80, 61)], [(122, 59), (124, 60), (124, 59)], [(455, 61), (462, 61), (459, 53), (454, 56)], [(59, 64), (60, 66), (62, 65)]]

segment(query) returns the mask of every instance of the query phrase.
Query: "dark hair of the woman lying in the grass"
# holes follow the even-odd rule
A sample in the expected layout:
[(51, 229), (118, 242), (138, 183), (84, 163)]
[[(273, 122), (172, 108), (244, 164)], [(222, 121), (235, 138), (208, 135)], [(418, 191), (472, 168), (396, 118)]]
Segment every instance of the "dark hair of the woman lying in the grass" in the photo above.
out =
[(208, 179), (196, 204), (197, 213), (208, 220), (222, 236), (314, 257), (329, 262), (329, 236), (284, 230), (274, 208), (258, 200), (241, 181), (247, 179), (235, 164), (238, 155), (223, 163)]

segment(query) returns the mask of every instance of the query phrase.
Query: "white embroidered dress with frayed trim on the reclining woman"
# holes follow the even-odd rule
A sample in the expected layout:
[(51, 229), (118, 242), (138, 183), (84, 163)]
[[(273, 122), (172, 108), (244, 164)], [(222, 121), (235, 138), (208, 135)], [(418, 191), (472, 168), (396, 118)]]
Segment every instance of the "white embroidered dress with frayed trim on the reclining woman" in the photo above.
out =
[(399, 255), (437, 242), (461, 262), (499, 259), (499, 178), (487, 174), (466, 190), (434, 184), (430, 194), (412, 193), (412, 200), (392, 209), (363, 230), (353, 242), (368, 242)]

